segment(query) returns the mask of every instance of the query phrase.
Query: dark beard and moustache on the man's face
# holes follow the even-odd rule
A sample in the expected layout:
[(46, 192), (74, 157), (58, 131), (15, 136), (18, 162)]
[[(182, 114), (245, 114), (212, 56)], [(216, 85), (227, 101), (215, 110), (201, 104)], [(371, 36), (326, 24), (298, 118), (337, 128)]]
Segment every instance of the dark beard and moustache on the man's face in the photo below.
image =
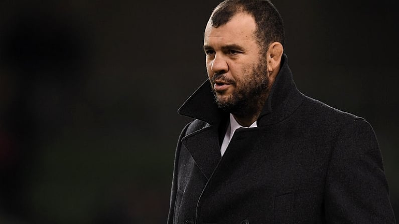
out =
[(234, 83), (236, 88), (225, 98), (219, 98), (213, 88), (213, 81), (216, 79), (223, 80), (223, 74), (215, 74), (212, 77), (211, 85), (217, 106), (223, 111), (240, 117), (259, 112), (269, 94), (270, 80), (267, 71), (268, 65), (266, 62), (254, 64), (250, 71), (244, 69), (242, 71), (243, 78), (236, 80)]

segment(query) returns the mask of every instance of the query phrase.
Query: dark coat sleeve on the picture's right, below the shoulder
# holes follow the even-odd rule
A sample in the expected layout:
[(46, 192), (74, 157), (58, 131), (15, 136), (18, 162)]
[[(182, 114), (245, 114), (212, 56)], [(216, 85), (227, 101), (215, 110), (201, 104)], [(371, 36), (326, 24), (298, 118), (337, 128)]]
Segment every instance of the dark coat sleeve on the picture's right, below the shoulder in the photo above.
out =
[(370, 124), (346, 124), (331, 153), (325, 185), (327, 223), (395, 223), (381, 152)]

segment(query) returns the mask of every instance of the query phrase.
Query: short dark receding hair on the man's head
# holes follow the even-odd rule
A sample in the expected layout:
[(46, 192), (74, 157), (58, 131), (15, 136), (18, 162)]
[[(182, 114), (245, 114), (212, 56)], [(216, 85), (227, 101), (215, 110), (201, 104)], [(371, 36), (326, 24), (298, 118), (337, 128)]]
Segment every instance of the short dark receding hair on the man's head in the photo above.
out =
[(269, 0), (225, 0), (211, 16), (212, 27), (225, 25), (237, 13), (251, 15), (256, 23), (255, 38), (259, 47), (267, 51), (273, 42), (284, 46), (284, 23), (276, 7)]

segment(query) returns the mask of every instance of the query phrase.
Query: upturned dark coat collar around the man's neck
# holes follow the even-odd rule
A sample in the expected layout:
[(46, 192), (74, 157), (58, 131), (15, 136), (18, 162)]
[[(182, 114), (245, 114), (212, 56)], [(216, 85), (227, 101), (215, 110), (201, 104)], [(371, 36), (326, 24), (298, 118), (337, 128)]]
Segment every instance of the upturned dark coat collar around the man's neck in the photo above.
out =
[[(207, 79), (179, 108), (178, 113), (210, 125), (218, 125), (228, 113), (217, 107), (211, 88)], [(266, 126), (286, 119), (301, 105), (304, 99), (302, 96), (288, 67), (288, 57), (284, 54), (280, 72), (257, 119), (257, 125)]]

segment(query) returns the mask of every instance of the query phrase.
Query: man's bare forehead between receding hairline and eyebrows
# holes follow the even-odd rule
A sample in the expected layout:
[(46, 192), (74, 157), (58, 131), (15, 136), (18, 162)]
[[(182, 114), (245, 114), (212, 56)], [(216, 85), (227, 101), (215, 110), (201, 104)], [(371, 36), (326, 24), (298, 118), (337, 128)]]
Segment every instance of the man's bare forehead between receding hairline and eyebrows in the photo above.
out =
[(205, 28), (204, 45), (217, 42), (236, 44), (237, 42), (254, 41), (256, 24), (253, 17), (246, 13), (234, 15), (229, 22), (218, 28), (212, 27), (210, 20)]

